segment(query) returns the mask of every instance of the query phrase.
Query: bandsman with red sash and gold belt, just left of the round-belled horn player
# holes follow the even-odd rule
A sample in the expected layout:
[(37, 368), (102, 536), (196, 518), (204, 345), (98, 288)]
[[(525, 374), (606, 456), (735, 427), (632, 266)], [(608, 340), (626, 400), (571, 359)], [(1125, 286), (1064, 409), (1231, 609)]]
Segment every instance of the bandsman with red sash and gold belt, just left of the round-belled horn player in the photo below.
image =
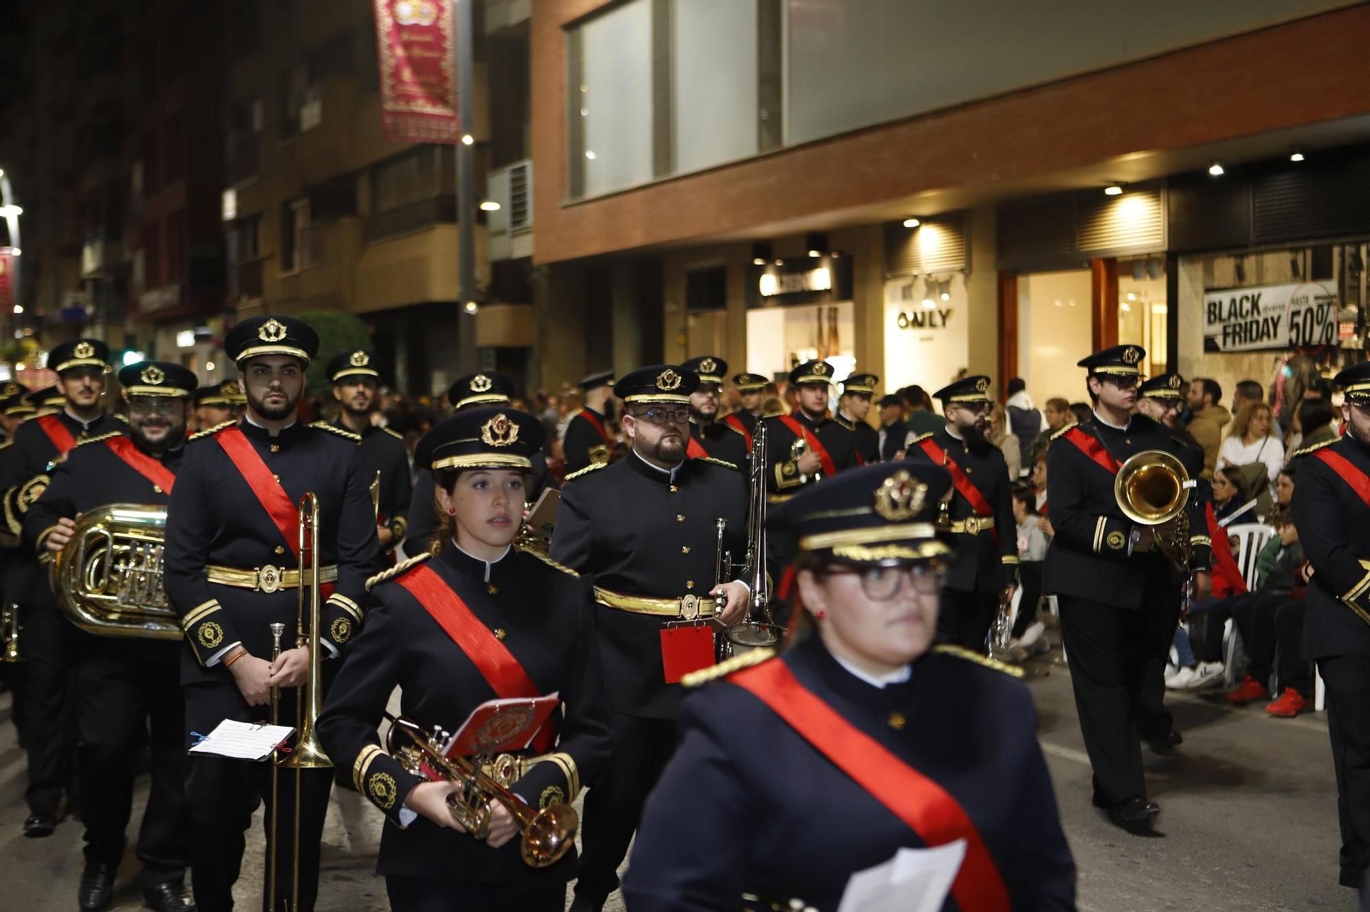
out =
[(955, 535), (956, 557), (947, 572), (937, 639), (985, 652), (999, 605), (1018, 586), (1018, 523), (1004, 453), (989, 442), (988, 377), (963, 377), (933, 394), (947, 423), (914, 438), (908, 459), (951, 472), (952, 494), (937, 512)]

